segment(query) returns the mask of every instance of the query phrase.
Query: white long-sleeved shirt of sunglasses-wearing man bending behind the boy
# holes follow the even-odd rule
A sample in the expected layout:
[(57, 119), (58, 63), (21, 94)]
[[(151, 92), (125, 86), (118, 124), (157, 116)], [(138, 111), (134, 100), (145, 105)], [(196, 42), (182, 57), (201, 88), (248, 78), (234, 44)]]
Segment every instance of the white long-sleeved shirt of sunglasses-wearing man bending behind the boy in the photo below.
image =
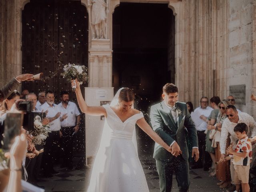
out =
[[(238, 123), (245, 123), (248, 126), (248, 138), (256, 136), (256, 122), (254, 118), (247, 113), (240, 112), (238, 113), (238, 122), (233, 123), (230, 122), (228, 118), (226, 118), (222, 124), (221, 132), (220, 132), (220, 153), (225, 154), (226, 152), (226, 143), (228, 138), (228, 133), (230, 133), (230, 140), (233, 143), (233, 150), (236, 148), (236, 133), (234, 132), (234, 127)], [(252, 146), (254, 148), (254, 146)]]

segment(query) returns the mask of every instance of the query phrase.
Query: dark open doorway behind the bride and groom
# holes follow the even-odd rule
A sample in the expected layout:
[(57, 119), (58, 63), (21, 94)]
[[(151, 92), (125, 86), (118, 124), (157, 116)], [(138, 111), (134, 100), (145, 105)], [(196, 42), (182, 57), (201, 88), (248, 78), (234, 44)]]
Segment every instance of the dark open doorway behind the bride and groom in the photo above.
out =
[[(163, 85), (175, 83), (174, 27), (168, 4), (120, 3), (113, 14), (113, 86), (134, 90), (135, 107), (148, 122)], [(141, 131), (138, 137), (141, 152), (152, 152), (152, 140)]]

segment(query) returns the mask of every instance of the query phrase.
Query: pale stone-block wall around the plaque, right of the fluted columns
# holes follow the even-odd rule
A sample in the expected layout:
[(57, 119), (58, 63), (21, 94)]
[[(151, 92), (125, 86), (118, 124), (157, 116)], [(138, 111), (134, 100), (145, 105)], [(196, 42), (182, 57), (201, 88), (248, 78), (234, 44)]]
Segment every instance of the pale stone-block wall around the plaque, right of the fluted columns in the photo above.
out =
[(254, 2), (254, 0), (230, 1), (230, 20), (228, 24), (230, 62), (226, 68), (226, 94), (229, 94), (229, 85), (246, 84), (246, 105), (238, 106), (238, 108), (249, 114), (253, 114), (250, 95), (253, 85), (252, 34)]

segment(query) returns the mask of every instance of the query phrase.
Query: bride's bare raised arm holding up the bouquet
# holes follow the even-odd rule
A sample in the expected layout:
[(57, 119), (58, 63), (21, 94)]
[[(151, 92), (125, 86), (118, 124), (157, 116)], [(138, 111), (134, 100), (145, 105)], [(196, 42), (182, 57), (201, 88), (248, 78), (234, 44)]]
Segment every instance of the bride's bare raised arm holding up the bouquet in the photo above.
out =
[[(71, 82), (72, 85), (74, 85), (74, 82)], [(76, 98), (78, 105), (81, 109), (81, 111), (85, 114), (92, 115), (92, 116), (107, 116), (106, 110), (102, 106), (88, 106), (82, 96), (82, 92), (80, 89), (80, 83), (76, 80)]]

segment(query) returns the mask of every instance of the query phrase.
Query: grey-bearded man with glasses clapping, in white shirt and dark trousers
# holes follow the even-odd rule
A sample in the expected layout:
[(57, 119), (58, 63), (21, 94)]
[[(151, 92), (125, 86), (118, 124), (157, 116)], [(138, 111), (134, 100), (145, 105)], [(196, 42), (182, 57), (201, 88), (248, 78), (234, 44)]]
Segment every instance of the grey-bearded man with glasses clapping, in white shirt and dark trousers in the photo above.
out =
[(46, 92), (46, 102), (42, 105), (42, 110), (48, 111), (46, 117), (49, 120), (49, 127), (51, 132), (48, 133), (48, 137), (45, 140), (44, 155), (43, 155), (43, 169), (45, 177), (52, 177), (52, 174), (56, 174), (53, 169), (54, 160), (58, 154), (58, 144), (61, 137), (60, 121), (67, 118), (66, 115), (60, 117), (60, 109), (58, 105), (54, 104), (55, 96), (52, 91)]

